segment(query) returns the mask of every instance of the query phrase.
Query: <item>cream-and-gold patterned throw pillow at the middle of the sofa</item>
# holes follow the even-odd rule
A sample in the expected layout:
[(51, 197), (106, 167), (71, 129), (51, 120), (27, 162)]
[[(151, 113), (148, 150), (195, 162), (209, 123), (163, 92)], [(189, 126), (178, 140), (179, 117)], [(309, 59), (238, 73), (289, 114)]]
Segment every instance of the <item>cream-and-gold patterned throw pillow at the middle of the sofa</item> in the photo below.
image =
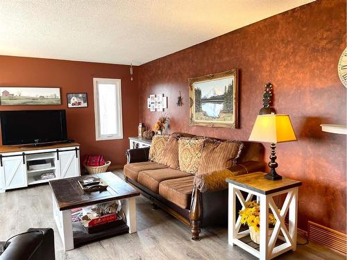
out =
[(204, 139), (180, 138), (178, 140), (178, 161), (180, 171), (196, 174), (201, 161)]

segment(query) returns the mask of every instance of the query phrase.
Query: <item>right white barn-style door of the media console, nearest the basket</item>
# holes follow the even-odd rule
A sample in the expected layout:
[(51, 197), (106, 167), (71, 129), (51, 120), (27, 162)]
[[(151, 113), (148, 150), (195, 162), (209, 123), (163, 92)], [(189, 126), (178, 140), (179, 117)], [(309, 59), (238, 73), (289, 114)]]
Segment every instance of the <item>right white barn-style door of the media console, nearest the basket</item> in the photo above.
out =
[(76, 152), (74, 150), (59, 152), (57, 164), (60, 170), (58, 171), (60, 173), (60, 178), (76, 177), (80, 175), (80, 163), (78, 158), (79, 154), (76, 157)]

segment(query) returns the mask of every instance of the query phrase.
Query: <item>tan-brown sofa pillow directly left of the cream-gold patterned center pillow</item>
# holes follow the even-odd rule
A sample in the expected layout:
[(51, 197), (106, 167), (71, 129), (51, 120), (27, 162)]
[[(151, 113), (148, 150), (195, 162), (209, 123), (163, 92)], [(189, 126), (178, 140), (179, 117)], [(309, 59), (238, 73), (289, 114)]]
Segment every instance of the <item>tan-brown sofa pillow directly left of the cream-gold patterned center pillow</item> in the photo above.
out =
[(180, 139), (180, 135), (171, 135), (171, 137), (169, 137), (167, 144), (164, 146), (164, 153), (159, 162), (160, 164), (164, 164), (170, 168), (179, 168), (178, 139)]

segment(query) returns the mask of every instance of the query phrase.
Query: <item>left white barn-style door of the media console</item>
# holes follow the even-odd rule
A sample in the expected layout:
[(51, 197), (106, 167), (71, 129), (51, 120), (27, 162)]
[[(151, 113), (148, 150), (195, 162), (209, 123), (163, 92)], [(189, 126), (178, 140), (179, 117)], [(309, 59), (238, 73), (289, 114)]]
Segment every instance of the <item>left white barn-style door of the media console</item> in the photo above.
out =
[(4, 189), (16, 189), (27, 186), (26, 164), (23, 164), (22, 156), (4, 157), (2, 164), (0, 171)]

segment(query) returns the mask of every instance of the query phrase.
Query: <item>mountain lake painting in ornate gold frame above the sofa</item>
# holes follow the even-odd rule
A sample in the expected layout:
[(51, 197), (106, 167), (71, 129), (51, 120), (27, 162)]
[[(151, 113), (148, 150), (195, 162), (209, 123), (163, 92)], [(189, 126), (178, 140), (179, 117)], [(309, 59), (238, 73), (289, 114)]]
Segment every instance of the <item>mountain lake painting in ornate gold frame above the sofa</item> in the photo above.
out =
[(238, 128), (237, 69), (189, 78), (189, 125)]

